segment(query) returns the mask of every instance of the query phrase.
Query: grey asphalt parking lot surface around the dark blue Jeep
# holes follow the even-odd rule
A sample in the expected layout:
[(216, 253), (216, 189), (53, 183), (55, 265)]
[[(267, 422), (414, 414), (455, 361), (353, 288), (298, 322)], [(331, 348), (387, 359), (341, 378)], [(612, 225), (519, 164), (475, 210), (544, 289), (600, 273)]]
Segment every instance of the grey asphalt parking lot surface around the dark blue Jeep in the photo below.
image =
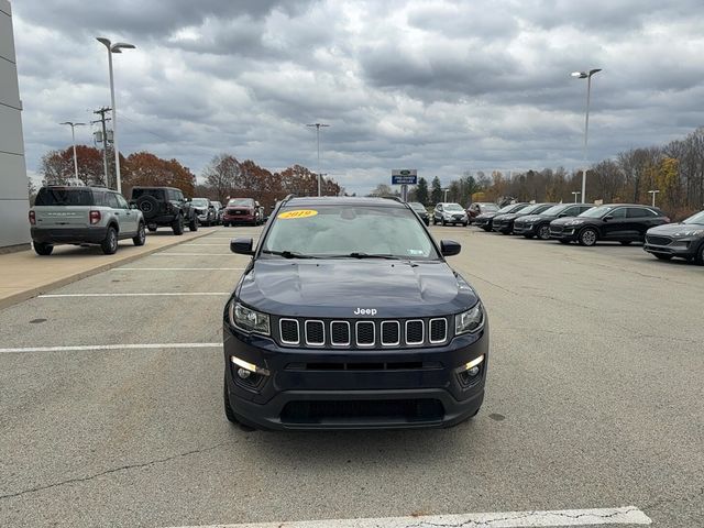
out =
[(221, 318), (248, 257), (229, 239), (260, 228), (220, 228), (0, 311), (0, 526), (627, 506), (653, 526), (703, 526), (704, 268), (637, 245), (431, 231), (462, 243), (449, 262), (491, 318), (474, 420), (233, 428)]

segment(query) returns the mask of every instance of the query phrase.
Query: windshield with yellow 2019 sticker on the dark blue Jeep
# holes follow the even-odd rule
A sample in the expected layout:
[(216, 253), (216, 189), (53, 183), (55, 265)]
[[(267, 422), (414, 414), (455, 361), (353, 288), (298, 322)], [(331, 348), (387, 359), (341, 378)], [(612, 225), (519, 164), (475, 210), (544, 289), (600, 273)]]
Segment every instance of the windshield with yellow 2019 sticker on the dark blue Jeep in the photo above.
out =
[(400, 207), (316, 206), (280, 210), (262, 244), (263, 253), (339, 256), (352, 253), (436, 260), (421, 223)]

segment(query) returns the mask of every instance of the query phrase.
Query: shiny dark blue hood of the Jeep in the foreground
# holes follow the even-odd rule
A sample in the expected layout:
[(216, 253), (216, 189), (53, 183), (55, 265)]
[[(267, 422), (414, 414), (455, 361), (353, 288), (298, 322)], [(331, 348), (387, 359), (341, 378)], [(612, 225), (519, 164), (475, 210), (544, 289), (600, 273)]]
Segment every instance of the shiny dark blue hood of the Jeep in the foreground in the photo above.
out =
[(358, 308), (376, 317), (457, 314), (476, 304), (474, 289), (442, 261), (257, 260), (235, 296), (273, 315), (355, 317)]

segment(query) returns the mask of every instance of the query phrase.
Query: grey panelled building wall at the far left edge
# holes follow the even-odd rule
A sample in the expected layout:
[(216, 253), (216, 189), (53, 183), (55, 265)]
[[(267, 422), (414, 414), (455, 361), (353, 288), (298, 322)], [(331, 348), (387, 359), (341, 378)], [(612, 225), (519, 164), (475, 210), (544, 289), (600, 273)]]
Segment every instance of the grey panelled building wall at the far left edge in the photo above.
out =
[(0, 0), (0, 252), (30, 243), (21, 113), (12, 10), (8, 0)]

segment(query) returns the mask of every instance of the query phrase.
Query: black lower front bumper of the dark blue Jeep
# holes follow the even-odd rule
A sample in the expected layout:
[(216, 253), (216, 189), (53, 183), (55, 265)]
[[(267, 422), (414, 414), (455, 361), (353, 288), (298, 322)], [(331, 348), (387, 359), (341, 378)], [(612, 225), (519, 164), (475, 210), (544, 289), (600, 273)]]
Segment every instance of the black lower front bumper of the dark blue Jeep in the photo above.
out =
[[(444, 346), (370, 351), (282, 348), (226, 323), (223, 348), (230, 406), (258, 428), (449, 427), (482, 405), (488, 323)], [(241, 381), (232, 355), (265, 367), (270, 375)], [(460, 374), (462, 365), (481, 355), (481, 372), (469, 383)]]

